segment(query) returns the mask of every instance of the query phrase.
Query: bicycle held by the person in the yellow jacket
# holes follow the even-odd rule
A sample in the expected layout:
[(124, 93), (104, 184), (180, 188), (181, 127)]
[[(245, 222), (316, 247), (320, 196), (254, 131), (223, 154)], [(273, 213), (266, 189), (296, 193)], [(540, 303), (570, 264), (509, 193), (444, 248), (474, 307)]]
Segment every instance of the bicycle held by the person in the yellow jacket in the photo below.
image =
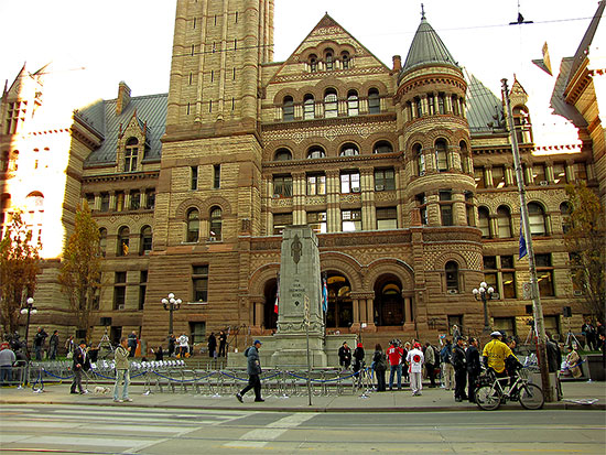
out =
[(545, 401), (543, 390), (539, 386), (529, 382), (528, 376), (527, 368), (520, 369), (516, 380), (507, 391), (505, 388), (509, 382), (509, 377), (495, 378), (493, 383), (480, 386), (476, 390), (476, 404), (485, 411), (494, 411), (501, 403), (517, 400), (524, 409), (541, 409)]

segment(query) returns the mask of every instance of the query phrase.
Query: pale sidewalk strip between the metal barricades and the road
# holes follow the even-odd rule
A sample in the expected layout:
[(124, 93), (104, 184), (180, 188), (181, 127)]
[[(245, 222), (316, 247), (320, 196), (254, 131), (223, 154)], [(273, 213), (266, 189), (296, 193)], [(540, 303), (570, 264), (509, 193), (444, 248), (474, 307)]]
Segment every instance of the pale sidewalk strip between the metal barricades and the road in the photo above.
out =
[[(564, 400), (545, 403), (543, 409), (554, 410), (606, 410), (605, 382), (564, 382), (562, 384)], [(150, 393), (144, 394), (142, 386), (130, 387), (131, 403), (115, 403), (112, 388), (108, 394), (71, 394), (69, 384), (52, 384), (44, 388), (44, 392), (35, 393), (32, 389), (2, 388), (0, 389), (0, 404), (78, 404), (78, 405), (117, 405), (143, 408), (191, 408), (209, 410), (247, 410), (273, 412), (439, 412), (439, 411), (479, 411), (479, 408), (469, 402), (454, 401), (453, 391), (444, 389), (424, 388), (421, 397), (412, 397), (410, 390), (392, 392), (371, 392), (368, 398), (357, 394), (338, 397), (313, 396), (312, 405), (309, 397), (264, 396), (263, 403), (253, 402), (252, 391), (239, 403), (234, 396), (202, 396), (195, 393)], [(598, 399), (595, 404), (578, 404), (574, 400)], [(502, 410), (522, 409), (518, 402), (502, 405)]]

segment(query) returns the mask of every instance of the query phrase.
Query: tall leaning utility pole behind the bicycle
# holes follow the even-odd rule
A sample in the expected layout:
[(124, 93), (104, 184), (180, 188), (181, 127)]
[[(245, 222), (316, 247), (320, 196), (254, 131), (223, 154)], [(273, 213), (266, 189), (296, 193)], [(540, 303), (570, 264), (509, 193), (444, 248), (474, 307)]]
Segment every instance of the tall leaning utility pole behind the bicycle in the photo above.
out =
[(518, 192), (520, 194), (520, 216), (523, 228), (523, 236), (528, 250), (528, 268), (530, 271), (530, 290), (532, 299), (532, 315), (534, 317), (534, 331), (538, 339), (537, 343), (537, 359), (541, 370), (541, 382), (545, 401), (553, 401), (551, 393), (551, 383), (548, 369), (548, 357), (545, 347), (545, 322), (543, 319), (543, 307), (541, 306), (541, 295), (539, 293), (539, 280), (537, 279), (537, 264), (534, 262), (534, 250), (532, 249), (532, 235), (530, 232), (530, 224), (528, 220), (528, 205), (526, 203), (526, 188), (522, 173), (522, 164), (520, 162), (520, 151), (518, 149), (518, 138), (513, 126), (513, 115), (511, 112), (511, 101), (509, 99), (509, 89), (507, 79), (501, 79), (502, 93), (507, 104), (507, 122), (509, 133), (511, 136), (511, 149), (513, 151), (513, 163), (516, 165), (516, 180), (518, 181)]

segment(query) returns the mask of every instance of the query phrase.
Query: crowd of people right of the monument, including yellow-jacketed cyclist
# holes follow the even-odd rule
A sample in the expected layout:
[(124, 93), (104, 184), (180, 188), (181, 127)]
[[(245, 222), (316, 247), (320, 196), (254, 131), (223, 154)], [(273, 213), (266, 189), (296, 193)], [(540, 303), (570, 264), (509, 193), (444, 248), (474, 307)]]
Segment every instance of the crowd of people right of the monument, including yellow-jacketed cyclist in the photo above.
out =
[[(574, 378), (581, 377), (582, 359), (577, 347), (574, 344), (566, 346), (567, 354), (564, 356), (551, 334), (548, 332), (547, 335), (549, 371), (564, 369)], [(377, 344), (370, 358), (376, 390), (402, 390), (402, 384), (408, 383), (412, 396), (416, 397), (422, 393), (424, 378), (430, 382), (430, 388), (452, 390), (457, 402), (475, 402), (475, 389), (483, 370), (490, 369), (498, 378), (515, 377), (521, 366), (516, 338), (506, 338), (498, 331), (493, 332), (490, 338), (484, 347), (477, 338), (463, 337), (459, 333), (454, 337), (454, 343), (450, 338), (441, 338), (440, 347), (429, 342), (422, 345), (418, 339), (405, 343), (392, 339), (386, 350)], [(604, 338), (602, 335), (602, 344), (596, 348), (604, 349)], [(343, 343), (338, 349), (338, 361), (343, 370), (350, 369), (353, 375), (361, 376), (359, 371), (365, 366), (362, 344), (357, 343), (351, 351), (348, 344)], [(386, 377), (388, 371), (389, 378)]]

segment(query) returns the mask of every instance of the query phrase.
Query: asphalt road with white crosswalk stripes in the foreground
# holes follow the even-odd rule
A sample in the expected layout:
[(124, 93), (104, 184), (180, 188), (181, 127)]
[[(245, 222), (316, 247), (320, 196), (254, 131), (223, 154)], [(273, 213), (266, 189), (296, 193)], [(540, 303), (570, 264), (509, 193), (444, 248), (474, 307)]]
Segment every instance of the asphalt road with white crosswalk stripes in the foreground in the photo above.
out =
[(603, 411), (297, 413), (0, 407), (2, 454), (541, 453), (606, 451)]

